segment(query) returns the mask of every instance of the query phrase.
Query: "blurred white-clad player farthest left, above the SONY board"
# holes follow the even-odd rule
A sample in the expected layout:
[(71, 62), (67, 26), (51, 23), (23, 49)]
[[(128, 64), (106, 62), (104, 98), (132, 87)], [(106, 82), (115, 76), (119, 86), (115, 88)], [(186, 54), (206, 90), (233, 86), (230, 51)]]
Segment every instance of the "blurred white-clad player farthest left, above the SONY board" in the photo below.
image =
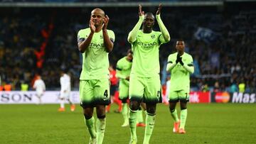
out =
[(33, 84), (33, 89), (36, 89), (36, 97), (38, 97), (38, 104), (42, 104), (41, 97), (43, 96), (43, 92), (46, 91), (46, 84), (41, 79), (41, 76), (38, 75), (36, 81)]

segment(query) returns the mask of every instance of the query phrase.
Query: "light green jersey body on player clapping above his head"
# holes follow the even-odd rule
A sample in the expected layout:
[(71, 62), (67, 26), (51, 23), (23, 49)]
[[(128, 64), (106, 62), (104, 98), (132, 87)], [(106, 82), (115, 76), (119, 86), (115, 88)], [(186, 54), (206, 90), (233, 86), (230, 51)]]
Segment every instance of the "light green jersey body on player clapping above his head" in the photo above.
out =
[(138, 77), (154, 77), (159, 75), (159, 47), (162, 44), (159, 40), (161, 32), (152, 31), (143, 33), (140, 30), (137, 38), (132, 43), (132, 72)]

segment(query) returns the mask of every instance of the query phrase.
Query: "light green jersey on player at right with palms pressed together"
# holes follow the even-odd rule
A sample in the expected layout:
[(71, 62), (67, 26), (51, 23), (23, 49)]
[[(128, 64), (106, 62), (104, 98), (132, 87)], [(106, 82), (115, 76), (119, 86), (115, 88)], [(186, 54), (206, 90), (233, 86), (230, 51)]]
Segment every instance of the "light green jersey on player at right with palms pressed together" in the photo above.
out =
[[(176, 62), (178, 52), (169, 55), (168, 62), (174, 63)], [(182, 62), (184, 65), (188, 65), (193, 67), (193, 58), (188, 53), (184, 52), (182, 57)], [(170, 90), (171, 91), (179, 91), (185, 90), (189, 92), (190, 89), (190, 73), (186, 70), (179, 62), (174, 68), (171, 70), (171, 84)]]

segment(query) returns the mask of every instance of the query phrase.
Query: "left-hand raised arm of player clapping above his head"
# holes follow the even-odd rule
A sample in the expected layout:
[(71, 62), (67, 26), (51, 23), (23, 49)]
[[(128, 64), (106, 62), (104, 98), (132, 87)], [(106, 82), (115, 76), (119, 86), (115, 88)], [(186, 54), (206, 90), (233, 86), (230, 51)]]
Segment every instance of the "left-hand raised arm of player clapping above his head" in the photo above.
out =
[(129, 32), (128, 35), (128, 42), (129, 43), (134, 43), (137, 37), (137, 33), (139, 31), (139, 28), (142, 26), (142, 22), (144, 21), (144, 11), (142, 11), (142, 5), (139, 4), (139, 21), (136, 23), (132, 31)]

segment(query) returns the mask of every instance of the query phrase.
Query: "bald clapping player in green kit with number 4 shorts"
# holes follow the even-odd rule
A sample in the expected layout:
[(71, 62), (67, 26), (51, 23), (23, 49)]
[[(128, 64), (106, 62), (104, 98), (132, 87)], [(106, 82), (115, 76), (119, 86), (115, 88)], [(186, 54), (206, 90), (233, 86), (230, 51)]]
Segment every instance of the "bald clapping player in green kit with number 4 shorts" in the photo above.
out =
[[(93, 9), (89, 28), (78, 32), (78, 49), (82, 53), (80, 105), (90, 133), (90, 143), (98, 144), (103, 142), (106, 128), (105, 106), (110, 104), (108, 53), (114, 46), (114, 32), (107, 30), (109, 20), (102, 9)], [(97, 113), (97, 133), (93, 117), (94, 107)]]

